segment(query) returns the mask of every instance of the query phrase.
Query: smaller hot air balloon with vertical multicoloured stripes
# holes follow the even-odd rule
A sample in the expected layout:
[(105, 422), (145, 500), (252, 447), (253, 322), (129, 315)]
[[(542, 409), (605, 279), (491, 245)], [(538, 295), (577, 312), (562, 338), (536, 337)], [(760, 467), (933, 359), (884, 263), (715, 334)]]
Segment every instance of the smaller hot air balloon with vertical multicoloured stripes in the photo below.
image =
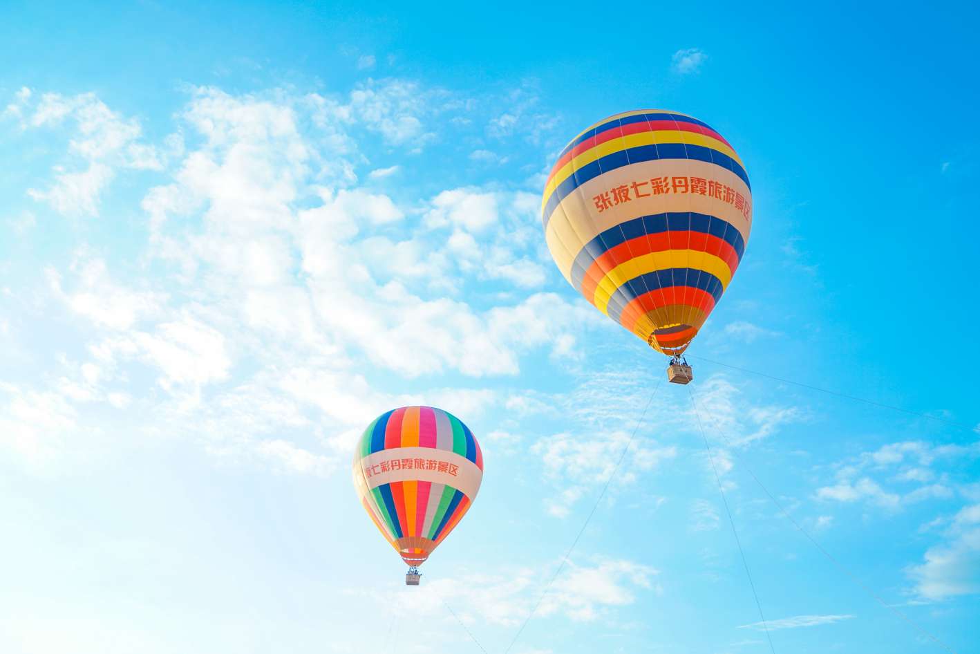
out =
[(354, 452), (354, 486), (368, 516), (409, 565), (420, 566), (476, 497), (483, 454), (472, 431), (433, 407), (402, 407), (365, 429)]

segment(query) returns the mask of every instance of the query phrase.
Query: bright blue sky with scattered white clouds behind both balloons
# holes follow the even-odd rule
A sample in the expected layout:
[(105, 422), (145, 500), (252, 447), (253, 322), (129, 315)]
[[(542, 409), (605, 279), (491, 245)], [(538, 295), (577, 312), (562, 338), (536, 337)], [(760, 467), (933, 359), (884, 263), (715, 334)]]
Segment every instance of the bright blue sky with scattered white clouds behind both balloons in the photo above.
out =
[[(4, 13), (4, 652), (479, 651), (447, 605), (504, 651), (663, 376), (537, 213), (564, 143), (635, 108), (706, 121), (753, 181), (689, 352), (775, 651), (943, 647), (752, 474), (977, 651), (975, 8)], [(349, 475), (408, 403), (486, 465), (418, 588)], [(690, 396), (661, 384), (512, 651), (768, 651), (759, 622)]]

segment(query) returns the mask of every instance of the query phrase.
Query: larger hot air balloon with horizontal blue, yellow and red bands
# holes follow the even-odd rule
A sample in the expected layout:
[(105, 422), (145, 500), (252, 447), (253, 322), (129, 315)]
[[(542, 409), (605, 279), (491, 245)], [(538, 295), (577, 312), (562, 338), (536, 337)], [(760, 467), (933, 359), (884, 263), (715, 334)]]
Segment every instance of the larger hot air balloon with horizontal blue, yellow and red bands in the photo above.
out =
[(738, 155), (701, 121), (616, 114), (565, 146), (545, 183), (545, 238), (565, 279), (599, 311), (681, 360), (738, 268), (752, 189)]

